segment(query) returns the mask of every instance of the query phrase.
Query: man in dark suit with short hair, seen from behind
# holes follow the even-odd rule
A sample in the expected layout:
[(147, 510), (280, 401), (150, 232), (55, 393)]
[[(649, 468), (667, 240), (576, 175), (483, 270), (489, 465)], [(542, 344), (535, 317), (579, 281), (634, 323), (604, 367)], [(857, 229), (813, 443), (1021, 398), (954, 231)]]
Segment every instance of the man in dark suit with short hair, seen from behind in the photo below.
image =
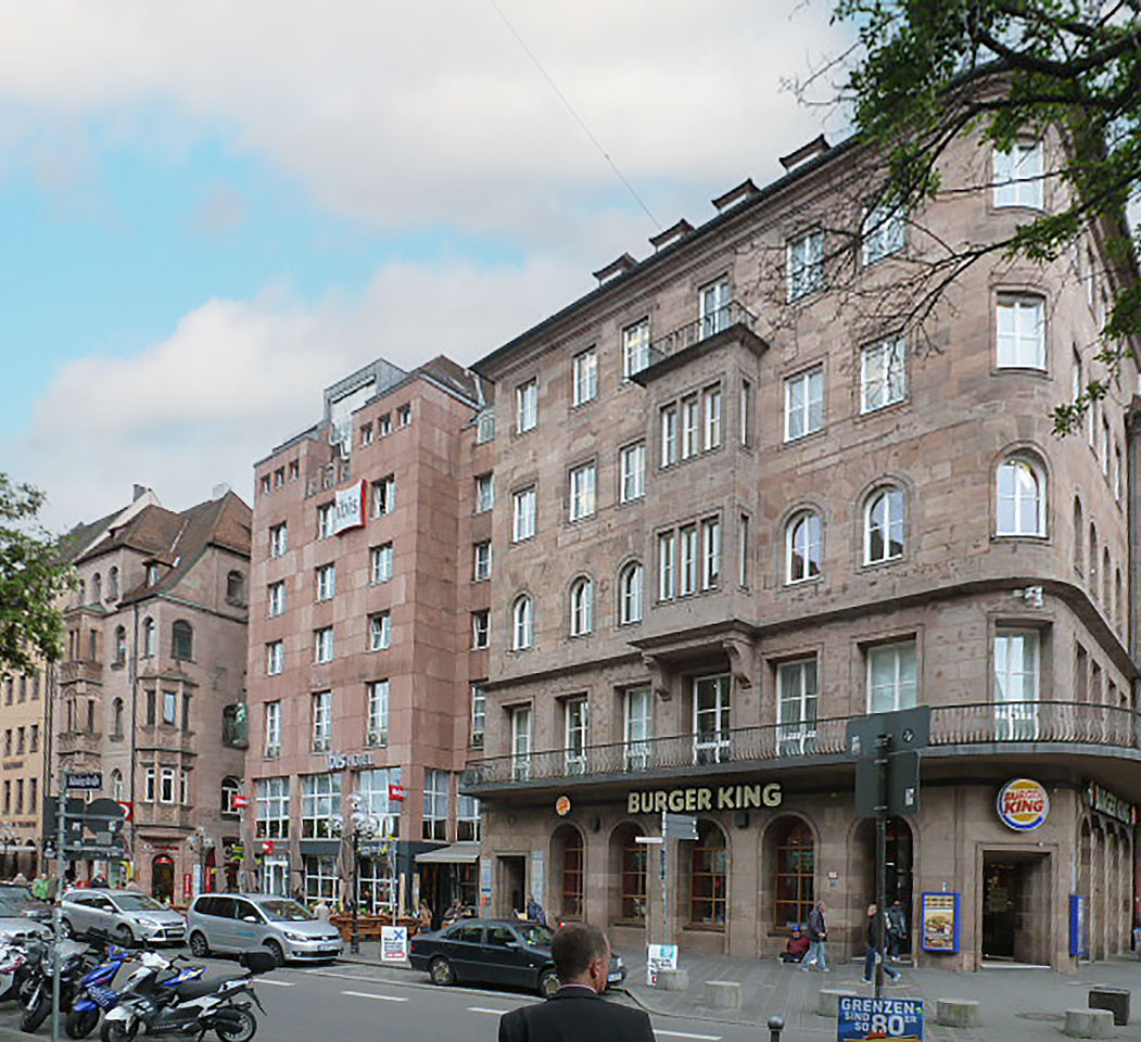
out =
[(545, 1002), (504, 1013), (499, 1042), (654, 1042), (647, 1013), (601, 997), (610, 971), (610, 942), (598, 927), (560, 927), (551, 955), (563, 987)]

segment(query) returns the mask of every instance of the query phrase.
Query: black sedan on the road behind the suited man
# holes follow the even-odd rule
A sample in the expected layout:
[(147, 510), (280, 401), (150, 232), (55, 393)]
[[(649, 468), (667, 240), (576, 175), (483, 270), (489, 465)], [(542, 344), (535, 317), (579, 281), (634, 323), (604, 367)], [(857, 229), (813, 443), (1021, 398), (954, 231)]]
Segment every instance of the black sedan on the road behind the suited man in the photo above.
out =
[[(461, 919), (443, 930), (412, 938), (408, 959), (436, 984), (458, 980), (526, 987), (553, 995), (559, 977), (551, 958), (555, 932), (537, 922)], [(622, 956), (612, 953), (609, 987), (626, 979)]]

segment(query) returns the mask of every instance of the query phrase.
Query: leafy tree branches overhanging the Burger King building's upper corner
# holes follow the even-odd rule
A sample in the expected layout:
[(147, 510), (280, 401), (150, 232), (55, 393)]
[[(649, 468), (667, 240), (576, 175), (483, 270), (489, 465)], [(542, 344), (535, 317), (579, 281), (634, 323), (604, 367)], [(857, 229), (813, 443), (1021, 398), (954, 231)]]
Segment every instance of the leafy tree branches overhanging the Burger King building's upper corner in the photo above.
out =
[[(913, 298), (924, 314), (987, 256), (1044, 262), (1095, 237), (1112, 306), (1099, 357), (1116, 372), (1141, 337), (1141, 283), (1127, 208), (1141, 188), (1141, 0), (839, 0), (856, 42), (809, 82), (842, 71), (839, 100), (887, 161), (885, 199), (905, 212), (940, 194), (939, 160), (971, 132), (1001, 151), (1023, 135), (1059, 135), (1042, 171), (1051, 212), (985, 244), (948, 245)], [(1108, 383), (1092, 381), (1054, 411), (1079, 425)]]

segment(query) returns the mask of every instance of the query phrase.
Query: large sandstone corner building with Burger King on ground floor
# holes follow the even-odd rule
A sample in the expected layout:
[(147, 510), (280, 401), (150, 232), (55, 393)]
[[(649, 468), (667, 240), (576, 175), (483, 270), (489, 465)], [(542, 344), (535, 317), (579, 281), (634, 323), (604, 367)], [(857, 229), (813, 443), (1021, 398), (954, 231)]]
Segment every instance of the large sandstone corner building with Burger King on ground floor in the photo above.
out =
[[(463, 785), (482, 898), (532, 891), (622, 945), (661, 940), (667, 912), (683, 951), (746, 958), (823, 899), (847, 958), (875, 892), (847, 728), (929, 705), (919, 813), (888, 823), (920, 961), (1073, 968), (1071, 911), (1075, 947), (1116, 953), (1141, 800), (1138, 374), (1095, 355), (1135, 275), (1097, 234), (1043, 265), (984, 255), (921, 337), (875, 320), (881, 288), (1061, 189), (1014, 191), (963, 142), (944, 195), (861, 235), (874, 157), (795, 159), (474, 366), (500, 413), (485, 759)], [(1086, 430), (1055, 437), (1051, 409), (1093, 379)], [(663, 810), (697, 818), (665, 888), (638, 842)]]

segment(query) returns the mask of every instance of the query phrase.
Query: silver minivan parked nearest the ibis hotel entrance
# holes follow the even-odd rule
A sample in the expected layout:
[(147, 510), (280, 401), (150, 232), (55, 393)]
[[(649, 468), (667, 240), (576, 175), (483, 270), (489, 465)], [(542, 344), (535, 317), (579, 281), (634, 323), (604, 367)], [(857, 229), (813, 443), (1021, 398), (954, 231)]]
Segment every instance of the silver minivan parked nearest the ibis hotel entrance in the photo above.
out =
[(211, 952), (269, 952), (288, 959), (335, 959), (345, 942), (335, 927), (289, 897), (273, 894), (201, 894), (186, 914), (195, 959)]

